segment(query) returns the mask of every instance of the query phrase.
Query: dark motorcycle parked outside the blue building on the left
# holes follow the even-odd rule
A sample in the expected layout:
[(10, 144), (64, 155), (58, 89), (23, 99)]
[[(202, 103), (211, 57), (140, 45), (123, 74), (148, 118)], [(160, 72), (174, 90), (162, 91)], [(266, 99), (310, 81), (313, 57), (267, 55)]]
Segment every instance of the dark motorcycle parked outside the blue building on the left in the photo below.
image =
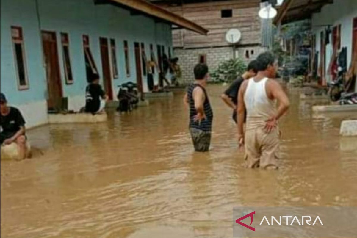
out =
[(117, 98), (119, 100), (119, 106), (117, 111), (130, 112), (137, 107), (139, 103), (139, 91), (137, 84), (133, 82), (126, 82), (122, 85), (118, 85), (119, 92)]

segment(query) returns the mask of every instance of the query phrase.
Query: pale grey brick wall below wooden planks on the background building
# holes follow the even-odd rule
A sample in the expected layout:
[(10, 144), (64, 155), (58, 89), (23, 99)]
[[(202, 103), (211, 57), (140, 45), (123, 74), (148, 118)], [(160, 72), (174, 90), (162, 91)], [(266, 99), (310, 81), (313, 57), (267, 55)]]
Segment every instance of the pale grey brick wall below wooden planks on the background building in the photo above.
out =
[[(248, 52), (246, 52), (248, 51)], [(223, 61), (233, 58), (232, 47), (217, 47), (217, 48), (201, 48), (201, 49), (181, 49), (174, 50), (175, 56), (179, 58), (178, 63), (182, 70), (181, 84), (186, 85), (193, 81), (193, 68), (198, 64), (200, 55), (206, 56), (206, 63), (210, 72), (217, 69), (218, 65)], [(236, 57), (239, 57), (248, 64), (255, 59), (263, 48), (260, 46), (240, 47), (236, 49)], [(248, 57), (246, 57), (246, 54)]]

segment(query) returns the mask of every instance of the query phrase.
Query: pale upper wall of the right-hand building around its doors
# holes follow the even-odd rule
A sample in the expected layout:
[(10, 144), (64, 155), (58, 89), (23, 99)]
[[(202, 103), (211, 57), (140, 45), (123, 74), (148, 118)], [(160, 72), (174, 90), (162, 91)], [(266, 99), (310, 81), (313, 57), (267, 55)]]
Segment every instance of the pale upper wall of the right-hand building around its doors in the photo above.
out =
[[(333, 26), (341, 24), (341, 47), (347, 47), (347, 66), (351, 64), (352, 57), (352, 30), (353, 18), (357, 17), (356, 0), (339, 0), (333, 4), (322, 7), (321, 12), (312, 15), (312, 30), (316, 35), (316, 50), (320, 52), (320, 32), (326, 29), (326, 25)], [(326, 75), (333, 51), (332, 34), (330, 44), (326, 45)], [(320, 65), (320, 53), (318, 54), (318, 65)], [(328, 79), (328, 77), (327, 77)], [(357, 91), (357, 85), (356, 85)]]

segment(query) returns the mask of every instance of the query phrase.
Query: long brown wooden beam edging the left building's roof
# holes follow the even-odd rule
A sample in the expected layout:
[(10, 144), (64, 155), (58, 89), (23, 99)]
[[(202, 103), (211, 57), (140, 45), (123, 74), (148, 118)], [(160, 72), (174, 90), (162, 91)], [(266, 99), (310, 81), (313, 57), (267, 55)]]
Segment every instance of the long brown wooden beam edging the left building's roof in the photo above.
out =
[(182, 26), (188, 30), (195, 31), (201, 35), (207, 35), (208, 30), (196, 23), (189, 21), (182, 16), (178, 16), (168, 10), (156, 6), (145, 0), (110, 0), (111, 2), (124, 5), (134, 10), (144, 12), (147, 15), (168, 21), (177, 26)]

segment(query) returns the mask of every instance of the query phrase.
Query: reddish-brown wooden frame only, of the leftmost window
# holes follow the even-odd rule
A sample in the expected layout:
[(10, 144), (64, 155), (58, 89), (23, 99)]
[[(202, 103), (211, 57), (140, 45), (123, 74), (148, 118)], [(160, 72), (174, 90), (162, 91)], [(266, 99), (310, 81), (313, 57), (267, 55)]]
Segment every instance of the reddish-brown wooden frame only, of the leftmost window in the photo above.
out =
[[(15, 65), (15, 74), (16, 74), (16, 80), (17, 80), (17, 89), (22, 91), (22, 90), (28, 90), (30, 88), (29, 84), (29, 77), (28, 77), (28, 72), (27, 72), (27, 63), (26, 63), (26, 55), (25, 55), (25, 42), (24, 42), (24, 34), (22, 32), (22, 27), (20, 26), (11, 26), (11, 43), (12, 43), (12, 52), (14, 55), (14, 65)], [(18, 30), (19, 31), (19, 36), (14, 37), (12, 30)], [(21, 45), (21, 53), (22, 53), (22, 62), (24, 65), (24, 76), (25, 76), (25, 83), (26, 85), (21, 85), (20, 83), (20, 75), (19, 75), (19, 67), (17, 64), (17, 56), (16, 56), (16, 51), (15, 51), (15, 44), (20, 44)]]

